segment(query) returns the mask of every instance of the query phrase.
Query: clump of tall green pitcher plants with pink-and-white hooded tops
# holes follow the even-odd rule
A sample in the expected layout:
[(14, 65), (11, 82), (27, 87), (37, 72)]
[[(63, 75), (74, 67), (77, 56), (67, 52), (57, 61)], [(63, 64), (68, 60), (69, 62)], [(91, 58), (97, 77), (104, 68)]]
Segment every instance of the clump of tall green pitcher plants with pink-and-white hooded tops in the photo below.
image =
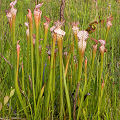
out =
[[(23, 38), (26, 41), (25, 55), (21, 52), (21, 40), (15, 37), (16, 3), (17, 0), (11, 2), (10, 9), (6, 11), (12, 41), (11, 78), (15, 89), (11, 91), (10, 97), (4, 98), (4, 105), (15, 92), (20, 102), (19, 109), (24, 113), (20, 117), (27, 120), (101, 120), (107, 116), (102, 103), (105, 102), (103, 94), (108, 75), (103, 76), (103, 72), (106, 65), (104, 61), (107, 60), (105, 45), (112, 26), (112, 16), (105, 21), (106, 37), (99, 40), (91, 38), (91, 34), (96, 32), (98, 21), (89, 24), (86, 30), (80, 30), (79, 22), (73, 22), (70, 28), (72, 40), (67, 48), (64, 46), (66, 32), (62, 30), (64, 20), (58, 20), (50, 27), (50, 18), (45, 16), (44, 37), (41, 38), (40, 8), (44, 3), (40, 3), (35, 6), (33, 13), (28, 9), (26, 38)], [(49, 32), (51, 37), (48, 37)], [(88, 41), (93, 45), (87, 44)], [(87, 46), (92, 48), (91, 58), (85, 56)], [(65, 47), (67, 50), (63, 49)], [(95, 71), (96, 67), (98, 72)], [(2, 110), (4, 109), (1, 107)]]

